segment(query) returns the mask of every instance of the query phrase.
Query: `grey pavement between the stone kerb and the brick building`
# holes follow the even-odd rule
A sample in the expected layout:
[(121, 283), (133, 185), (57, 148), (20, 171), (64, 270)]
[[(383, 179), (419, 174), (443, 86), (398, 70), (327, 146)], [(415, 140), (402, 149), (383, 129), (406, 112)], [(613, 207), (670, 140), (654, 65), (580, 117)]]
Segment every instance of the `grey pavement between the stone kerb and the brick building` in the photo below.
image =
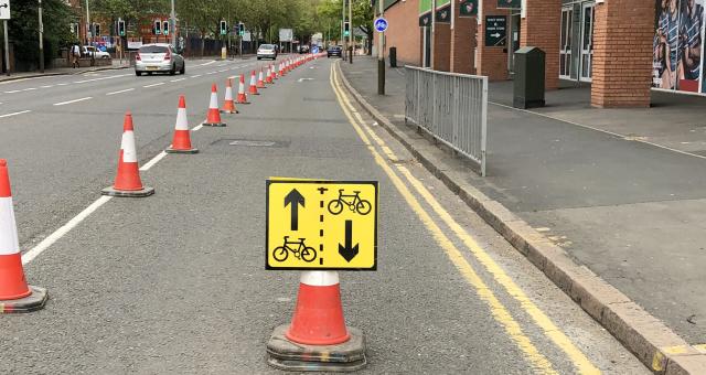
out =
[[(375, 60), (342, 67), (368, 103), (415, 137), (404, 124), (404, 68), (387, 68), (387, 95), (378, 96)], [(491, 83), (488, 178), (460, 179), (689, 344), (703, 344), (706, 163), (693, 146), (706, 99), (655, 92), (651, 109), (591, 109), (587, 93), (550, 92), (547, 107), (525, 111), (507, 107), (512, 83)]]

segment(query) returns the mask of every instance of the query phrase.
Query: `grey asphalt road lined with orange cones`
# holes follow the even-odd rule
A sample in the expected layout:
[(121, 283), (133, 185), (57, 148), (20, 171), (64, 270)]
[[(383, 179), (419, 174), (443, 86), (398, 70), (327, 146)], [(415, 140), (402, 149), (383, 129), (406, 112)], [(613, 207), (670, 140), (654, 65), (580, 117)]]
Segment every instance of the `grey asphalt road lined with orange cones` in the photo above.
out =
[[(156, 195), (98, 201), (32, 258), (26, 277), (51, 300), (39, 312), (0, 315), (0, 372), (277, 373), (265, 345), (291, 319), (299, 272), (264, 269), (265, 181), (296, 176), (379, 181), (378, 270), (341, 272), (346, 321), (368, 344), (363, 373), (646, 373), (350, 105), (331, 84), (331, 65), (296, 69), (224, 116), (226, 128), (197, 127), (201, 153), (170, 154), (142, 172)], [(10, 163), (22, 250), (110, 184), (126, 110), (145, 165), (171, 140), (178, 95), (194, 127), (211, 84), (255, 66), (0, 85), (0, 158)]]

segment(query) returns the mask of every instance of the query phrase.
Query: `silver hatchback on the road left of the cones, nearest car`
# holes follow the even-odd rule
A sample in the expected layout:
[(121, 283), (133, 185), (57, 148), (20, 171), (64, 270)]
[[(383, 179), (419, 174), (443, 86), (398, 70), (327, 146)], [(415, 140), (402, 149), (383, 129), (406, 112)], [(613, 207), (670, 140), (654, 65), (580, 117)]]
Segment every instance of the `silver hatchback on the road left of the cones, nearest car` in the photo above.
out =
[(135, 74), (152, 74), (153, 72), (169, 73), (171, 75), (184, 74), (186, 63), (184, 57), (176, 53), (171, 44), (156, 43), (145, 44), (138, 50), (135, 56)]

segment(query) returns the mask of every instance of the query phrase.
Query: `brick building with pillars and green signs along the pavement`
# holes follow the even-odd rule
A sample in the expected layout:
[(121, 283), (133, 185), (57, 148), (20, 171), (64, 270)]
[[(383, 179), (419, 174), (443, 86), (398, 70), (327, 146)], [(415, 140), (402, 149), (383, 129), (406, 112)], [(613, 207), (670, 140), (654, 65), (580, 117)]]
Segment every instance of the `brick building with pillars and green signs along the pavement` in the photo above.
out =
[(646, 107), (651, 88), (706, 93), (706, 0), (384, 1), (385, 53), (406, 64), (502, 81), (514, 51), (536, 46), (547, 89), (590, 84), (597, 107)]

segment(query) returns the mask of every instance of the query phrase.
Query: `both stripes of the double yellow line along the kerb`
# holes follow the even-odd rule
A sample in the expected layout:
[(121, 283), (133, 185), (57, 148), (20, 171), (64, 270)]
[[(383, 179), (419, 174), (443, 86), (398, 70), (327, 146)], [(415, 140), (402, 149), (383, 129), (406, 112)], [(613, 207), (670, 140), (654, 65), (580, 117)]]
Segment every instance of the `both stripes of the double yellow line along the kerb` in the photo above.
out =
[[(338, 75), (336, 63), (335, 65), (331, 65), (331, 87), (338, 97), (343, 113), (355, 129), (355, 132), (367, 146), (367, 149), (373, 154), (375, 162), (383, 169), (383, 171), (385, 171), (397, 191), (403, 195), (407, 204), (417, 214), (419, 219), (421, 219), (439, 246), (445, 250), (451, 262), (453, 262), (453, 266), (456, 266), (467, 282), (473, 287), (480, 299), (485, 302), (495, 321), (504, 328), (505, 332), (515, 345), (517, 345), (517, 347), (524, 353), (526, 361), (533, 369), (542, 374), (557, 374), (552, 363), (532, 343), (532, 340), (530, 340), (530, 338), (523, 332), (522, 326), (517, 321), (515, 321), (507, 308), (505, 308), (498, 297), (495, 297), (493, 290), (479, 277), (473, 267), (463, 257), (461, 250), (459, 250), (443, 231), (441, 231), (431, 215), (421, 206), (420, 202), (410, 192), (407, 184), (399, 178), (398, 173), (405, 178), (407, 183), (414, 188), (417, 194), (424, 199), (437, 216), (441, 218), (451, 232), (453, 232), (453, 234), (463, 243), (473, 257), (483, 265), (485, 270), (493, 276), (495, 282), (502, 286), (509, 296), (520, 302), (520, 306), (525, 313), (527, 313), (535, 324), (543, 330), (545, 336), (547, 336), (569, 357), (580, 374), (600, 374), (600, 371), (586, 357), (586, 355), (576, 347), (576, 345), (574, 345), (574, 343), (566, 336), (566, 334), (564, 334), (564, 332), (561, 332), (559, 328), (554, 324), (554, 322), (552, 322), (549, 317), (547, 317), (534, 302), (532, 302), (532, 300), (530, 300), (512, 278), (510, 278), (510, 276), (505, 274), (505, 271), (490, 257), (490, 255), (475, 242), (475, 239), (466, 232), (466, 229), (463, 229), (456, 219), (453, 219), (453, 217), (406, 167), (394, 164), (397, 172), (393, 170), (391, 163), (387, 163), (381, 156), (381, 151), (389, 160), (398, 160), (397, 156), (385, 144), (385, 141), (377, 137), (377, 135), (367, 125), (365, 125), (361, 114), (355, 109), (355, 107), (353, 107), (347, 95), (342, 89)], [(371, 142), (371, 139), (373, 139), (375, 143)], [(381, 151), (378, 151), (375, 144)]]

